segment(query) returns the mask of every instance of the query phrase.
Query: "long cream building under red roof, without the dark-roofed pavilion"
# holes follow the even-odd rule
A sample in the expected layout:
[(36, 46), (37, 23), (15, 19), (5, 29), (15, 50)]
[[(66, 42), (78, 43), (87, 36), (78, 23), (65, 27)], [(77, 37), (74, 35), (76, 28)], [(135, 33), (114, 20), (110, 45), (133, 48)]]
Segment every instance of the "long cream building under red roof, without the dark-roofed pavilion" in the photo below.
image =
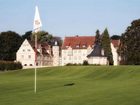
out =
[(61, 51), (62, 66), (69, 63), (82, 64), (91, 53), (94, 41), (94, 36), (65, 37)]

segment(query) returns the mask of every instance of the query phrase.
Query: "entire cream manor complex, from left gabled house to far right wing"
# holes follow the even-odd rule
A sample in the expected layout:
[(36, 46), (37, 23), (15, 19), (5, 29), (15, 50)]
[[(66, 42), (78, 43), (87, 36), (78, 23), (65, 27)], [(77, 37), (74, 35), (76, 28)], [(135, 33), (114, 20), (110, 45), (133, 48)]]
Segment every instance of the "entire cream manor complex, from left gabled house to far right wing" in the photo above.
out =
[[(95, 36), (65, 37), (62, 47), (57, 41), (53, 45), (38, 43), (37, 57), (35, 57), (34, 44), (25, 40), (17, 51), (16, 60), (21, 62), (24, 68), (35, 66), (63, 66), (66, 64), (83, 64), (86, 60), (89, 64), (107, 65), (107, 57), (104, 49), (95, 44)], [(111, 40), (111, 51), (114, 65), (119, 65), (117, 49), (119, 40)]]

